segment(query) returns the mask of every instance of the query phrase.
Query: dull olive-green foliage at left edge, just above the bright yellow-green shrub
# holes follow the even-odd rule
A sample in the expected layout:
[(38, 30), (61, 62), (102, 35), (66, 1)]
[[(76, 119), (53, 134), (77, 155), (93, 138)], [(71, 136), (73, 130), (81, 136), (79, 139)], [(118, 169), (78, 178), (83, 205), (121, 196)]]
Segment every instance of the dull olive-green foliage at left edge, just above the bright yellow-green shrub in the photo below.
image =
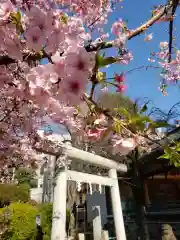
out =
[(14, 185), (14, 184), (0, 184), (0, 206), (9, 205), (11, 202), (28, 202), (29, 200), (29, 186), (28, 185)]

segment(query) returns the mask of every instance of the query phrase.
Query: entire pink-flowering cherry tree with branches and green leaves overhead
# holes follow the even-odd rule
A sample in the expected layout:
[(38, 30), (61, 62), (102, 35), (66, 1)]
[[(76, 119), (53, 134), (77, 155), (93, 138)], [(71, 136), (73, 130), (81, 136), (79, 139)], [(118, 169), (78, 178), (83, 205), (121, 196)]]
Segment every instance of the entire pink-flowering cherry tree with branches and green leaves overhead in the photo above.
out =
[[(117, 4), (117, 0), (0, 0), (2, 155), (17, 152), (32, 158), (36, 144), (42, 143), (37, 131), (48, 119), (67, 126), (79, 140), (108, 139), (114, 154), (128, 154), (142, 144), (142, 137), (153, 141), (148, 136), (159, 127), (157, 122), (138, 113), (132, 116), (121, 107), (112, 111), (99, 106), (95, 93), (98, 86), (103, 86), (102, 91), (109, 86), (118, 93), (126, 90), (124, 73), (107, 79), (101, 69), (128, 64), (133, 54), (127, 41), (154, 23), (169, 21), (172, 28), (179, 1), (157, 6), (152, 17), (136, 29), (128, 29), (118, 19), (112, 24), (114, 40), (110, 41), (104, 26)], [(150, 34), (145, 41), (152, 38)], [(172, 59), (171, 38), (170, 34), (169, 43), (161, 42), (154, 54), (162, 68), (164, 94), (167, 82), (179, 79), (180, 53)], [(117, 49), (116, 56), (105, 57), (101, 50), (111, 47)], [(41, 64), (44, 58), (47, 64)], [(52, 150), (47, 142), (43, 146), (43, 151)]]

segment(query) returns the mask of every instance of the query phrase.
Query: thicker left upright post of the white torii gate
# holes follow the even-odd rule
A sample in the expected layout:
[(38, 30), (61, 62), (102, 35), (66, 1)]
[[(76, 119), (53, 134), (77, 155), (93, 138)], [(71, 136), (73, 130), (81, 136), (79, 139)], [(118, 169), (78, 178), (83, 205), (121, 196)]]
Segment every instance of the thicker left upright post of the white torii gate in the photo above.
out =
[(54, 187), (53, 218), (51, 240), (64, 240), (66, 237), (66, 169), (60, 169)]

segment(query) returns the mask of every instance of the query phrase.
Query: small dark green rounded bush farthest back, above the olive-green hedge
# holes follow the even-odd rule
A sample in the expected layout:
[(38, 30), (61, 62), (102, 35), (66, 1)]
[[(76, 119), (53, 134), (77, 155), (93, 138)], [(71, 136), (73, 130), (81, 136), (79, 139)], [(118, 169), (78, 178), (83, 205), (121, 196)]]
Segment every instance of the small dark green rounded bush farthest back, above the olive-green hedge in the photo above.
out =
[(15, 179), (18, 181), (18, 184), (28, 184), (31, 188), (37, 187), (35, 176), (34, 170), (30, 168), (19, 168), (15, 172)]

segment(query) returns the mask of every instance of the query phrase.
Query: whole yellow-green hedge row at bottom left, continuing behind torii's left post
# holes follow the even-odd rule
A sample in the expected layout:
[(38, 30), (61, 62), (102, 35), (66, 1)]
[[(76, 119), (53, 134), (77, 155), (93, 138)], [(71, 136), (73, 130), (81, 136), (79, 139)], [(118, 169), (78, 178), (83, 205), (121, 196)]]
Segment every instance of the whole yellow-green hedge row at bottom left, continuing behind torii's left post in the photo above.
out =
[[(14, 202), (0, 209), (1, 240), (35, 240), (37, 234), (36, 215), (41, 216), (43, 240), (51, 239), (52, 204), (32, 205)], [(70, 212), (67, 210), (67, 224)], [(2, 231), (3, 230), (3, 231)]]

